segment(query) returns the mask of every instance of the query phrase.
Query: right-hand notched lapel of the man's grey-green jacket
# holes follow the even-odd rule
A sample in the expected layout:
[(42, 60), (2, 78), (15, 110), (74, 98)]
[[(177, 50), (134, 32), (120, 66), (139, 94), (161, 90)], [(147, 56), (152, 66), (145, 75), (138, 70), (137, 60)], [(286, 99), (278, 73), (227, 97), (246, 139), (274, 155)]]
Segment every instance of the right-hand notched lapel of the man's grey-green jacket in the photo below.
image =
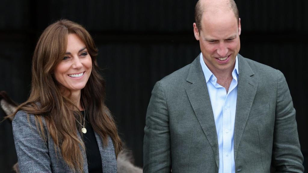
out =
[(248, 120), (250, 109), (257, 92), (258, 82), (253, 78), (253, 70), (240, 54), (238, 54), (239, 79), (237, 84), (237, 103), (234, 125), (234, 160)]

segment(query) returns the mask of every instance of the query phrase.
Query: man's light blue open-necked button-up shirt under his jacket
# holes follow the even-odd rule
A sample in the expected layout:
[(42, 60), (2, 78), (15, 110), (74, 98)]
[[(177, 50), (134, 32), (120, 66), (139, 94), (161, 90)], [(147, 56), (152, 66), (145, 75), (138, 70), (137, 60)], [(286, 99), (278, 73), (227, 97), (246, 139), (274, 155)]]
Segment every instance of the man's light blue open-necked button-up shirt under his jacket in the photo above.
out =
[(224, 87), (217, 83), (217, 78), (205, 65), (202, 53), (200, 54), (200, 63), (214, 113), (219, 147), (219, 173), (235, 173), (233, 139), (237, 100), (238, 59), (236, 56), (235, 67), (232, 71), (233, 79), (228, 93)]

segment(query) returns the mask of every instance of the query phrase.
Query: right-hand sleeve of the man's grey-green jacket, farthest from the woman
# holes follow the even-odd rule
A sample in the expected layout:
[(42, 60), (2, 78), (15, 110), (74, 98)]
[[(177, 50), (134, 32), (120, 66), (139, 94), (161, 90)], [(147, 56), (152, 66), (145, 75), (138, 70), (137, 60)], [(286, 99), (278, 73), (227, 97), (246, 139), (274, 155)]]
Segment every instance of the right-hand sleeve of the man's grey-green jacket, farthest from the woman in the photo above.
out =
[(273, 161), (276, 172), (303, 172), (295, 109), (283, 74), (278, 71)]

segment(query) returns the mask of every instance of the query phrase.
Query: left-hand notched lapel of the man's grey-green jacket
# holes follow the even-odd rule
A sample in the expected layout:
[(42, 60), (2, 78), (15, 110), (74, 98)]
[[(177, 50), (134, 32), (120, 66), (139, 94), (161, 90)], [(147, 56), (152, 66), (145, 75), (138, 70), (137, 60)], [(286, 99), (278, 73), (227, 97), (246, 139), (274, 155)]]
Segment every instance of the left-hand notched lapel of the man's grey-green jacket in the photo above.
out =
[(191, 85), (185, 88), (190, 104), (201, 125), (201, 128), (208, 139), (213, 152), (217, 167), (219, 166), (219, 148), (214, 120), (213, 109), (206, 86), (205, 77), (200, 64), (200, 55), (192, 62), (187, 82)]

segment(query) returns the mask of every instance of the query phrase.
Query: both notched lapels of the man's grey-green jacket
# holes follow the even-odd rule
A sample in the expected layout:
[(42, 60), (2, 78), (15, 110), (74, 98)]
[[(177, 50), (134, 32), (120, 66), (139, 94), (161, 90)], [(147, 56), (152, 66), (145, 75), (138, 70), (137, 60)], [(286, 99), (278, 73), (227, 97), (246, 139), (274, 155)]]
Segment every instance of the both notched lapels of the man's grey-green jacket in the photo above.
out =
[[(244, 57), (240, 54), (237, 57), (239, 77), (234, 127), (234, 159), (236, 159), (239, 143), (257, 91), (257, 80), (253, 78), (253, 70)], [(215, 120), (208, 88), (200, 64), (200, 55), (191, 63), (186, 81), (191, 83), (191, 85), (185, 88), (188, 99), (213, 149), (216, 164), (219, 167), (219, 147)]]

